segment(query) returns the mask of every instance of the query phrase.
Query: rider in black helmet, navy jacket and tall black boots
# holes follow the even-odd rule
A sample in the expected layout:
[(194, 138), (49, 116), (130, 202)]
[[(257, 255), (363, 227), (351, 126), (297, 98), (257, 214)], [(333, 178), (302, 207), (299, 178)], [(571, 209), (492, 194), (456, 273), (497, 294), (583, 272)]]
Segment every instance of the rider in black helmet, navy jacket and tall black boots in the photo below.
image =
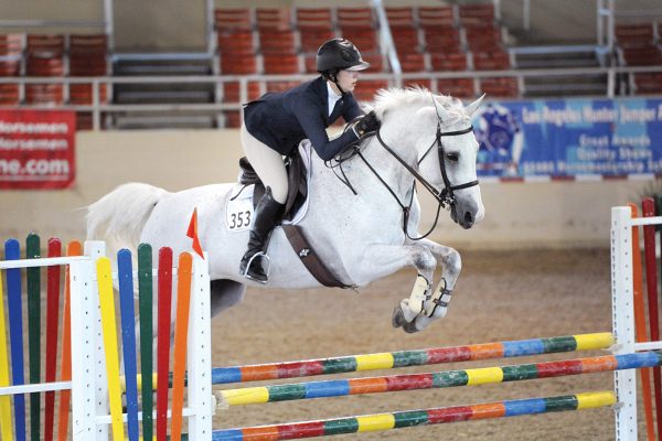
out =
[[(255, 208), (248, 247), (239, 266), (239, 272), (247, 279), (267, 282), (263, 257), (269, 234), (280, 222), (288, 192), (282, 157), (296, 153), (299, 142), (308, 138), (327, 161), (380, 127), (374, 111), (362, 116), (352, 95), (359, 72), (369, 66), (352, 42), (329, 40), (317, 53), (317, 69), (321, 74), (318, 78), (282, 93), (263, 95), (246, 105), (242, 147), (266, 187)], [(340, 116), (345, 121), (361, 119), (352, 130), (329, 140), (327, 128)]]

